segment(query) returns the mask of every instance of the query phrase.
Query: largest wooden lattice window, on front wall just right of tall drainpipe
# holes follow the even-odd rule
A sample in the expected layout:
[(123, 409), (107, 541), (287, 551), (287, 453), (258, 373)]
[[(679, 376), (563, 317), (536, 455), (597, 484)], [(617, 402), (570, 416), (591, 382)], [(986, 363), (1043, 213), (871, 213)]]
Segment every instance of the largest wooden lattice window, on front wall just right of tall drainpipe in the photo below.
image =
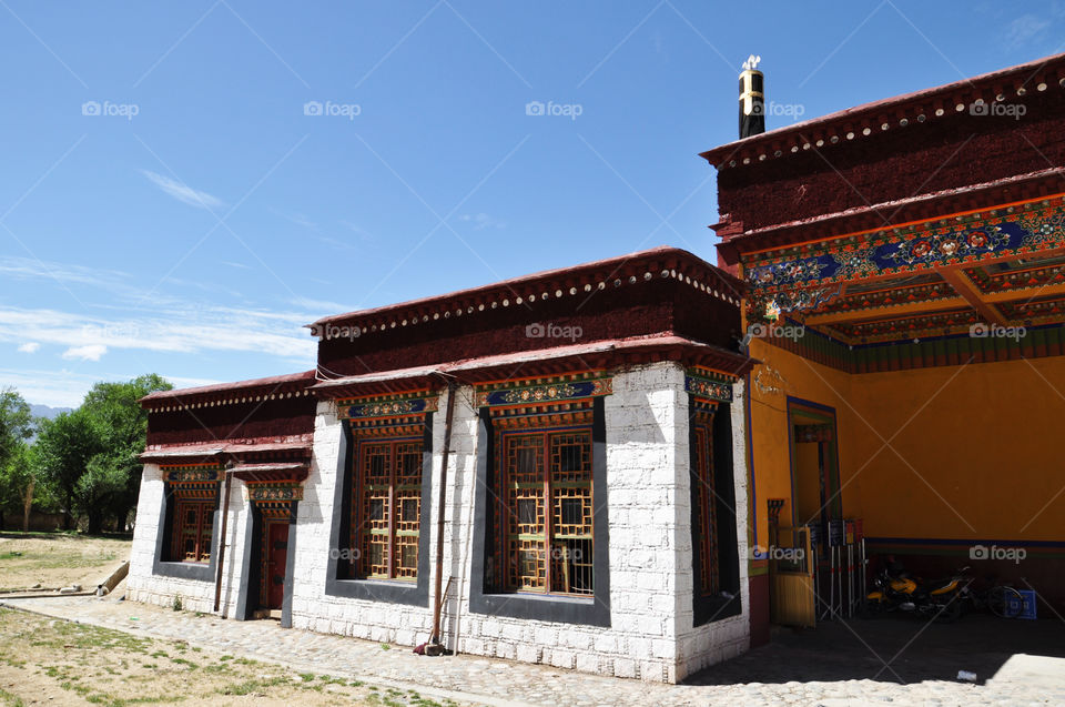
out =
[(499, 450), (501, 588), (592, 595), (591, 428), (503, 431)]

